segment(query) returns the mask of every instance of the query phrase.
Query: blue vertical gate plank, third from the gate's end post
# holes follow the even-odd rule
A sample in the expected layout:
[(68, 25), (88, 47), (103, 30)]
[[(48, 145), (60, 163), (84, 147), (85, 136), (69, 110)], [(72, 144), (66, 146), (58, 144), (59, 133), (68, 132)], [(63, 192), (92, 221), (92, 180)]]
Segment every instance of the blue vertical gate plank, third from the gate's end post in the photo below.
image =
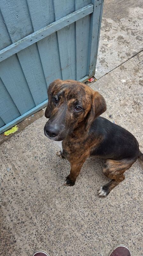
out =
[[(54, 22), (52, 0), (27, 0), (34, 31)], [(36, 9), (36, 11), (35, 11)], [(56, 33), (37, 43), (47, 86), (54, 79), (61, 78), (61, 66)], [(47, 94), (46, 94), (47, 95)]]

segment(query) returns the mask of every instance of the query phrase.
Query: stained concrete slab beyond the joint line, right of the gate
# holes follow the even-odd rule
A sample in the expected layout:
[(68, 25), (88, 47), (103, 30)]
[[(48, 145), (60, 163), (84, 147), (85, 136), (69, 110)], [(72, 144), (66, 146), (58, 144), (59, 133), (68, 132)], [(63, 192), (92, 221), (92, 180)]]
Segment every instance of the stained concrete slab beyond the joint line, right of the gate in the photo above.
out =
[(143, 50), (143, 1), (105, 0), (96, 78)]

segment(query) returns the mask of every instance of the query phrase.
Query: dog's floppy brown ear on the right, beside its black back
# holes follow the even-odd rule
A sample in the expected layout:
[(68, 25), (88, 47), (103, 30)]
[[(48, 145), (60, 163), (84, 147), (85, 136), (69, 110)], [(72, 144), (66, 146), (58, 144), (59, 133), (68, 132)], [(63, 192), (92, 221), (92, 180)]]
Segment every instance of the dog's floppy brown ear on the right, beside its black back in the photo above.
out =
[(92, 94), (92, 106), (88, 114), (85, 130), (87, 131), (92, 122), (106, 111), (106, 102), (103, 96), (99, 92), (93, 92)]

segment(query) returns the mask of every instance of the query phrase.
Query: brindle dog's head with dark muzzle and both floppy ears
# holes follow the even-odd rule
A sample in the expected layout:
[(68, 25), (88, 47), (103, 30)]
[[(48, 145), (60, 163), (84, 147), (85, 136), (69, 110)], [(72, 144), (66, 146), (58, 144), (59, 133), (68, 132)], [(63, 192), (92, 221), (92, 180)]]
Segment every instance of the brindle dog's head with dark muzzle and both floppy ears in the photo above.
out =
[(55, 80), (48, 88), (45, 116), (45, 135), (52, 140), (63, 140), (80, 124), (88, 131), (91, 123), (106, 110), (102, 95), (74, 80)]

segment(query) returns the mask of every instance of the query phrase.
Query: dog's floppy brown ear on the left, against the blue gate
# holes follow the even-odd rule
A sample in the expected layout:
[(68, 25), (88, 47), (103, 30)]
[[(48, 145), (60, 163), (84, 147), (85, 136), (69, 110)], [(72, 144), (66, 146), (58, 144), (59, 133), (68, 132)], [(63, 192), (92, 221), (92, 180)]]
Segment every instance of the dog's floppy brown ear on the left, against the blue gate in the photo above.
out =
[(48, 87), (48, 105), (45, 110), (45, 116), (46, 118), (50, 118), (51, 112), (52, 112), (52, 95), (54, 92), (54, 88), (56, 85), (61, 84), (62, 80), (56, 79), (54, 82), (52, 82)]

